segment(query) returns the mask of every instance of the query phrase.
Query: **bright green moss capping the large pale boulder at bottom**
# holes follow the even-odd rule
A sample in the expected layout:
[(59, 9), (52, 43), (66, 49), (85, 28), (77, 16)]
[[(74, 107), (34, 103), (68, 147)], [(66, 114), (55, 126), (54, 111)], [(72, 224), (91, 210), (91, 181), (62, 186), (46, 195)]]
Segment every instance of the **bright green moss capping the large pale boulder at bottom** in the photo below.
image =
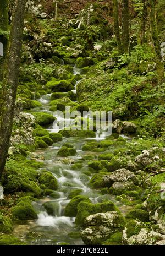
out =
[(75, 223), (76, 225), (83, 226), (84, 219), (87, 216), (96, 213), (106, 213), (106, 211), (117, 211), (120, 213), (119, 209), (112, 201), (97, 204), (82, 201), (78, 205), (78, 213), (76, 215)]

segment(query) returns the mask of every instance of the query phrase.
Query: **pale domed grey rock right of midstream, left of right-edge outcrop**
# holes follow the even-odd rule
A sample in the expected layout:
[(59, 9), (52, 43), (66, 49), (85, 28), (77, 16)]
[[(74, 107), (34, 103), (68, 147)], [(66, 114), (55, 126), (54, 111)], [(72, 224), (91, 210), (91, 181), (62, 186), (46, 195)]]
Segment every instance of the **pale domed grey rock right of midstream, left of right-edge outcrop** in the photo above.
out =
[(109, 173), (103, 177), (103, 180), (106, 184), (112, 186), (114, 182), (133, 182), (138, 184), (138, 178), (134, 175), (133, 172), (127, 169), (119, 169), (115, 172)]

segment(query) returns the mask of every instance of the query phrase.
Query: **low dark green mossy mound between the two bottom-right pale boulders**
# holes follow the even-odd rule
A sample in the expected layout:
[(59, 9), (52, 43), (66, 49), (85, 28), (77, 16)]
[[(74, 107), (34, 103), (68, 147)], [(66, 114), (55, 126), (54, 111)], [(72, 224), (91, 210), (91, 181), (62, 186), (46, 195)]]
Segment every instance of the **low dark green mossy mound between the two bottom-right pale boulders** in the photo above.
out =
[(147, 211), (141, 210), (141, 209), (131, 210), (125, 217), (127, 219), (140, 220), (142, 222), (149, 221), (149, 213)]

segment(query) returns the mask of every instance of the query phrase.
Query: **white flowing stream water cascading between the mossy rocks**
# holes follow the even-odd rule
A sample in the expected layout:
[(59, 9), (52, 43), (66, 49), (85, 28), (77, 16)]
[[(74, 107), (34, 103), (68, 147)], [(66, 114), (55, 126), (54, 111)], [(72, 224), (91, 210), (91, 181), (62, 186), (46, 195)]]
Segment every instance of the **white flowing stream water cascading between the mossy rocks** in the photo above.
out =
[[(80, 74), (81, 70), (74, 68), (74, 74)], [(79, 81), (76, 83), (76, 85)], [(76, 92), (76, 86), (75, 90)], [(51, 95), (42, 96), (40, 101), (42, 103), (42, 110), (48, 113), (53, 113), (49, 111), (49, 102)], [(35, 110), (36, 111), (36, 110)], [(53, 125), (48, 128), (49, 132), (58, 132), (57, 123), (62, 121), (61, 117), (57, 117)], [(38, 149), (35, 153), (31, 154), (31, 158), (40, 157), (41, 161), (45, 162), (45, 166), (48, 171), (52, 172), (54, 177), (58, 181), (58, 190), (56, 192), (56, 199), (50, 196), (46, 196), (39, 201), (33, 202), (34, 208), (38, 213), (37, 220), (30, 220), (26, 222), (17, 222), (14, 228), (14, 235), (23, 239), (28, 244), (59, 244), (59, 243), (70, 243), (70, 244), (84, 244), (81, 238), (72, 238), (68, 236), (70, 232), (80, 232), (80, 227), (75, 226), (75, 218), (70, 218), (64, 216), (65, 206), (69, 203), (68, 198), (69, 193), (73, 189), (82, 189), (83, 195), (90, 198), (92, 203), (101, 203), (105, 199), (114, 201), (119, 209), (122, 211), (123, 215), (127, 213), (130, 209), (129, 206), (122, 205), (116, 200), (113, 195), (102, 195), (95, 189), (91, 189), (88, 186), (90, 177), (85, 174), (87, 170), (87, 162), (85, 160), (86, 152), (82, 151), (81, 148), (84, 143), (91, 140), (103, 140), (106, 137), (105, 132), (97, 132), (96, 138), (63, 138), (63, 141), (58, 142), (55, 146), (50, 146), (47, 149)], [(61, 146), (69, 142), (75, 145), (76, 156), (73, 157), (58, 157), (57, 152)], [(87, 152), (87, 155), (96, 157), (97, 153)], [(72, 164), (79, 159), (83, 158), (83, 168), (80, 171), (72, 170)], [(1, 194), (1, 191), (0, 191)], [(53, 216), (48, 215), (46, 209), (43, 207), (43, 203), (46, 201), (51, 201), (53, 203), (54, 213)]]

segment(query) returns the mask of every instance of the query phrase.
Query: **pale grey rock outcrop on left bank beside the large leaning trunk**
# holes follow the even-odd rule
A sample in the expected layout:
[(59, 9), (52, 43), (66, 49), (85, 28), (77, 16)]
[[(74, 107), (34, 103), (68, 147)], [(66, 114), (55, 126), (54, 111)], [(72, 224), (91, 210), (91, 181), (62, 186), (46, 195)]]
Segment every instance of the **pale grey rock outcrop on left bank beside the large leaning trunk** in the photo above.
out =
[(32, 130), (35, 125), (35, 117), (29, 113), (19, 113), (19, 115), (14, 117), (14, 126), (19, 127), (19, 129), (13, 132), (11, 137), (11, 143), (23, 143), (26, 145), (34, 144), (34, 138), (32, 136)]

